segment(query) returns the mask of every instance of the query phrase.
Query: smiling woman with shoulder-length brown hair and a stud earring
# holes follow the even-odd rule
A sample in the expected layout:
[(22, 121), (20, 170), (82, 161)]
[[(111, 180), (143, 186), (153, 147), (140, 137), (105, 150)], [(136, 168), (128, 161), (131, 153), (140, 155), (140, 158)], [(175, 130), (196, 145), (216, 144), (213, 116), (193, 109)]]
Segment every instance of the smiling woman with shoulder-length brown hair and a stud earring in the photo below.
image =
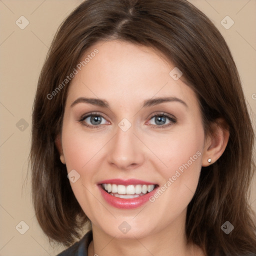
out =
[(251, 121), (228, 46), (189, 2), (81, 3), (32, 118), (33, 204), (71, 245), (59, 255), (256, 255)]

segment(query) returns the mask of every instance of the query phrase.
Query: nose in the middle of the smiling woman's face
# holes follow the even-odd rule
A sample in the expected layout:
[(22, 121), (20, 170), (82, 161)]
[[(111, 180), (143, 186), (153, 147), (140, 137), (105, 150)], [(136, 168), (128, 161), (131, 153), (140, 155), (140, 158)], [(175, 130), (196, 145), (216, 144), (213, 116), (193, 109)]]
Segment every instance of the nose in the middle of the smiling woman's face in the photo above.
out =
[(144, 161), (144, 146), (134, 134), (133, 126), (126, 131), (117, 127), (108, 149), (108, 163), (118, 169), (133, 169)]

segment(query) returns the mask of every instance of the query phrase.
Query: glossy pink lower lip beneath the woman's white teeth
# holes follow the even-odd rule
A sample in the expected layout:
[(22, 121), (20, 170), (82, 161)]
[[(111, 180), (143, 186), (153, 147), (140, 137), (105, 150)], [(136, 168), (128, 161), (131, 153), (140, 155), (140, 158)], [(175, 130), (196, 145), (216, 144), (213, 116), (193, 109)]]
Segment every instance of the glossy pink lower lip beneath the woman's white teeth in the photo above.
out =
[(149, 200), (149, 197), (155, 193), (155, 188), (144, 195), (140, 195), (135, 198), (119, 198), (114, 195), (109, 194), (106, 192), (101, 184), (98, 185), (100, 193), (102, 197), (105, 199), (106, 202), (108, 202), (110, 205), (116, 207), (116, 208), (121, 208), (121, 209), (134, 209), (138, 208), (144, 203), (146, 203)]

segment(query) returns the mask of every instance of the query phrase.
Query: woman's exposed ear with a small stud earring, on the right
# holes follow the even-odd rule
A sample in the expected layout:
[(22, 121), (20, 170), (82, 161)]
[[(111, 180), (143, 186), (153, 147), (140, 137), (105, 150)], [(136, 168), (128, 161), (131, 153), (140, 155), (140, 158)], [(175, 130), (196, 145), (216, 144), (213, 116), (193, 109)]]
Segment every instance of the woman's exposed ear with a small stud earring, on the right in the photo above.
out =
[[(224, 152), (228, 138), (229, 128), (223, 118), (218, 118), (212, 123), (212, 134), (208, 135), (204, 141), (204, 149), (202, 154), (202, 166), (208, 166), (215, 162)], [(208, 162), (208, 159), (211, 162)]]

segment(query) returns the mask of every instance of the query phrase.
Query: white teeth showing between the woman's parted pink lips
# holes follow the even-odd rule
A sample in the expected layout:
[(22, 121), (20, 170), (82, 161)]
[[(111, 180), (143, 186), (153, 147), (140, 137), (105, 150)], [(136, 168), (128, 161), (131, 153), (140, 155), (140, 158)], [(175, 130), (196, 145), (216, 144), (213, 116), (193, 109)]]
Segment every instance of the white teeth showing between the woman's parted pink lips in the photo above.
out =
[(110, 184), (110, 183), (103, 183), (101, 187), (110, 195), (119, 198), (136, 198), (151, 192), (155, 189), (158, 185), (151, 184), (136, 184), (136, 185), (120, 185), (120, 184)]

